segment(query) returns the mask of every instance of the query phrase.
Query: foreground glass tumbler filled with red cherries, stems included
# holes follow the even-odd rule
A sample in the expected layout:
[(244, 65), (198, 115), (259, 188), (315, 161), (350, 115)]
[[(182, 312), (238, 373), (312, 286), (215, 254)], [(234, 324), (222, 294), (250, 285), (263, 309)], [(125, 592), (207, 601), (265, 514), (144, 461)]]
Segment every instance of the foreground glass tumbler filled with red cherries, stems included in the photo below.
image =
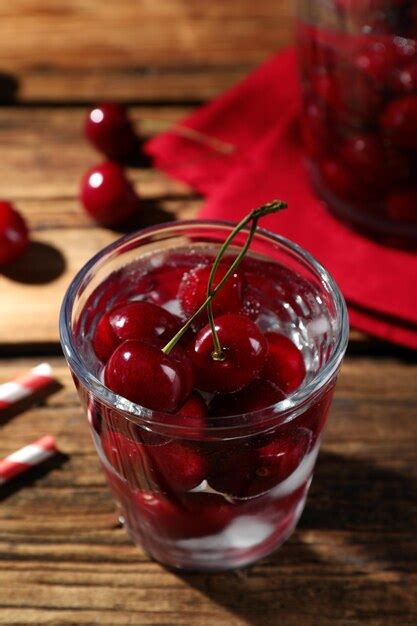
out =
[(283, 207), (124, 237), (63, 302), (64, 353), (120, 519), (171, 567), (251, 563), (304, 508), (348, 322), (326, 270), (258, 227)]

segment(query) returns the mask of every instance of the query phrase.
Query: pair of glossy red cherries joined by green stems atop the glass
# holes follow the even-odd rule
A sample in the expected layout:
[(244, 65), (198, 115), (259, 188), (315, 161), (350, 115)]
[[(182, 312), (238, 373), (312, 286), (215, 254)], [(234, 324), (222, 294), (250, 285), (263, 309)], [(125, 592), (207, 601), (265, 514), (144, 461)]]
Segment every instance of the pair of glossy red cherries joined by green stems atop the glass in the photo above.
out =
[[(111, 353), (104, 372), (105, 383), (110, 389), (149, 409), (176, 413), (190, 397), (195, 376), (197, 376), (196, 386), (199, 389), (220, 392), (238, 391), (256, 378), (266, 358), (267, 344), (264, 335), (255, 323), (244, 315), (226, 313), (214, 321), (213, 300), (243, 260), (255, 235), (258, 220), (285, 206), (285, 203), (281, 201), (266, 204), (251, 211), (233, 229), (213, 263), (204, 302), (166, 345), (163, 345), (166, 340), (166, 331), (173, 331), (175, 322), (173, 316), (168, 324), (169, 328), (166, 322), (160, 319), (154, 319), (152, 322), (148, 318), (144, 322), (147, 325), (147, 331), (142, 329), (135, 333), (135, 337), (140, 336), (141, 339), (119, 343)], [(228, 270), (225, 273), (222, 272), (222, 278), (213, 287), (216, 272), (224, 254), (235, 236), (248, 223), (251, 223), (251, 227), (245, 245)], [(132, 303), (131, 306), (135, 304), (139, 303)], [(148, 304), (148, 306), (152, 305)], [(195, 319), (206, 310), (209, 324), (197, 335), (190, 359), (178, 343), (186, 335)], [(163, 315), (168, 314), (164, 311)], [(105, 324), (106, 321), (100, 321), (103, 327)], [(116, 329), (118, 341), (123, 339), (120, 326), (117, 322), (113, 323), (112, 332)], [(130, 333), (129, 335), (132, 336)], [(105, 341), (99, 341), (99, 343), (104, 345)], [(107, 354), (102, 356), (105, 357)]]

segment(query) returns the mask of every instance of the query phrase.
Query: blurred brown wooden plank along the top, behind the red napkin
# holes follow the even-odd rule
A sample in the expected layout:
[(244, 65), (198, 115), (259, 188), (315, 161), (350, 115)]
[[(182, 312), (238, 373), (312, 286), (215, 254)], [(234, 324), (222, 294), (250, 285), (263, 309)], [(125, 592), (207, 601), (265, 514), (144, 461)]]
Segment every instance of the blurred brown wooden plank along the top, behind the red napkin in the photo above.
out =
[(289, 0), (15, 0), (0, 7), (0, 69), (22, 101), (206, 99), (291, 41), (292, 11)]

